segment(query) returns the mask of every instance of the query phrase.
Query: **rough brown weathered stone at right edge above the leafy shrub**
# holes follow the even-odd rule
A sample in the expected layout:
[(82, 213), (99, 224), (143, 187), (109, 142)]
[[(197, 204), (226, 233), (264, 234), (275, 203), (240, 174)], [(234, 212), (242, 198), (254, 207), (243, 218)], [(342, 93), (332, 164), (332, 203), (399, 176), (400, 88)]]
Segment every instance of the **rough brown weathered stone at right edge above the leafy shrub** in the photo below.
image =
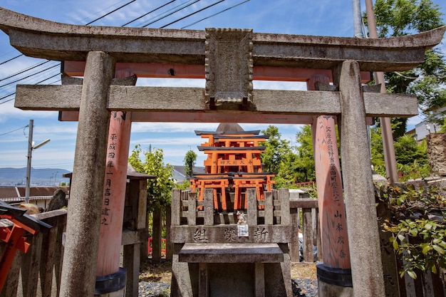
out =
[(426, 135), (427, 160), (432, 171), (446, 175), (446, 133)]

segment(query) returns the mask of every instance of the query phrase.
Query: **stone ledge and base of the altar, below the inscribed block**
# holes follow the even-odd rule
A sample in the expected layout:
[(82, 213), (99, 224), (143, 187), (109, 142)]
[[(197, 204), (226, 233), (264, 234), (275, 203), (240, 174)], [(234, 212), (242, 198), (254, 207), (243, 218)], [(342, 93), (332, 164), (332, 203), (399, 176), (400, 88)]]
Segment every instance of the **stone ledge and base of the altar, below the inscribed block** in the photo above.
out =
[(287, 244), (175, 244), (173, 297), (291, 297)]

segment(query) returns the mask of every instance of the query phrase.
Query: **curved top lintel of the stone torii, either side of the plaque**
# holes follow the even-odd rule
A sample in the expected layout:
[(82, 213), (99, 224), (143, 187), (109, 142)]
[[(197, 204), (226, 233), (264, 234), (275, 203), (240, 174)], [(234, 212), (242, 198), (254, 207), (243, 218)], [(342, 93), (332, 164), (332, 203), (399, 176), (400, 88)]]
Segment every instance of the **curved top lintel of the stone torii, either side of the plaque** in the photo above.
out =
[[(85, 61), (88, 51), (106, 51), (118, 62), (195, 63), (204, 61), (204, 31), (76, 26), (0, 9), (0, 28), (26, 56)], [(254, 65), (330, 69), (348, 59), (363, 71), (403, 71), (424, 61), (440, 43), (445, 27), (413, 36), (345, 38), (254, 33)]]

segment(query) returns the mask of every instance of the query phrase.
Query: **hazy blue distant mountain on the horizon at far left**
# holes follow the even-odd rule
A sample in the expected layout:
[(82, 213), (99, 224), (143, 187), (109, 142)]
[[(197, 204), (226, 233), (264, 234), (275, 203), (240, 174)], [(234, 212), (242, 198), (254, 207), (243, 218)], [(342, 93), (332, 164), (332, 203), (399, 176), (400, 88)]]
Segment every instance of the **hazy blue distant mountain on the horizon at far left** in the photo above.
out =
[[(37, 186), (57, 186), (61, 182), (68, 184), (70, 179), (62, 177), (62, 174), (70, 171), (61, 168), (42, 168), (31, 167), (31, 184)], [(23, 168), (0, 168), (0, 185), (25, 185), (26, 167)]]

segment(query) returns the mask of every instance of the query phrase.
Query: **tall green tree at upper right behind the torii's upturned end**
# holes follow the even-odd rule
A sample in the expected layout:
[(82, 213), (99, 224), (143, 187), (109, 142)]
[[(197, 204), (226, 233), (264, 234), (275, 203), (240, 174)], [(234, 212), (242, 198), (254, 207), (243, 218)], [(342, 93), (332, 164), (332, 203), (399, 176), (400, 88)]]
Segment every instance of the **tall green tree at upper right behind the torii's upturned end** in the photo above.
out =
[[(404, 36), (444, 25), (440, 6), (431, 0), (376, 0), (375, 19), (379, 37)], [(446, 105), (446, 61), (438, 48), (425, 53), (425, 62), (410, 71), (385, 73), (389, 93), (417, 95), (420, 109), (432, 116), (432, 110)], [(393, 119), (394, 139), (403, 136), (407, 120)]]

